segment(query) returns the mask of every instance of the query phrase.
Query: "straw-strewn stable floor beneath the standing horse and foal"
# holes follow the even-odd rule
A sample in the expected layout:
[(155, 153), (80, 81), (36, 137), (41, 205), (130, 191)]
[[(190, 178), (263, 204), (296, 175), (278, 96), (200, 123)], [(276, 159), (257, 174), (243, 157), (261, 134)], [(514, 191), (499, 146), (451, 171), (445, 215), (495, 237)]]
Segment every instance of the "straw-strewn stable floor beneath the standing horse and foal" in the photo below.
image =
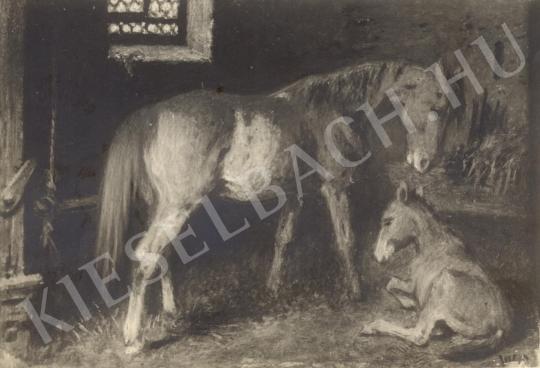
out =
[(165, 324), (158, 317), (148, 326), (149, 347), (136, 356), (124, 354), (116, 323), (121, 318), (111, 317), (88, 329), (79, 325), (62, 351), (42, 351), (49, 358), (35, 367), (495, 367), (502, 366), (501, 360), (509, 365), (509, 360), (520, 357), (535, 366), (538, 330), (534, 324), (495, 355), (449, 362), (438, 357), (445, 346), (442, 340), (419, 348), (396, 338), (358, 333), (376, 317), (405, 324), (414, 321), (414, 312), (401, 310), (386, 293), (372, 303), (339, 310), (324, 304), (301, 309), (214, 325), (196, 321), (178, 327), (178, 335), (164, 332)]

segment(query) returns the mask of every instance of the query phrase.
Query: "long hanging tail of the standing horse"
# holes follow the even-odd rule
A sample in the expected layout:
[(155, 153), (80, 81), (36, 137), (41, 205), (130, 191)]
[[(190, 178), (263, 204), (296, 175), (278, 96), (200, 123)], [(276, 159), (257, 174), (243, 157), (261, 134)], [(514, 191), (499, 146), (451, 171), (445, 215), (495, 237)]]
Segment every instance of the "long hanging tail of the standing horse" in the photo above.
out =
[(129, 121), (117, 131), (109, 152), (101, 182), (96, 255), (109, 253), (98, 266), (106, 275), (120, 263), (122, 242), (129, 224), (129, 213), (137, 191), (146, 178), (143, 161), (144, 132)]

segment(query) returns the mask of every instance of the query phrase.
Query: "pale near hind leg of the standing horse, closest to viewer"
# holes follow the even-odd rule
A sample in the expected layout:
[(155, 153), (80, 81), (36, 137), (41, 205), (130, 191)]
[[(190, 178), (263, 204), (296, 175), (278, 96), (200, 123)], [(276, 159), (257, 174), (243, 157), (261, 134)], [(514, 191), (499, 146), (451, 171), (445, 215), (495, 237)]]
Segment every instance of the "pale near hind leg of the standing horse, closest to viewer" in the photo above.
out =
[[(124, 342), (128, 346), (128, 353), (136, 352), (142, 348), (139, 335), (142, 318), (145, 314), (144, 297), (148, 281), (153, 276), (158, 264), (155, 255), (163, 252), (165, 246), (173, 240), (172, 237), (178, 234), (188, 216), (189, 211), (173, 206), (157, 211), (148, 232), (137, 246), (136, 254), (140, 263), (135, 269), (128, 313), (124, 323)], [(165, 285), (168, 282), (170, 280), (165, 281)]]

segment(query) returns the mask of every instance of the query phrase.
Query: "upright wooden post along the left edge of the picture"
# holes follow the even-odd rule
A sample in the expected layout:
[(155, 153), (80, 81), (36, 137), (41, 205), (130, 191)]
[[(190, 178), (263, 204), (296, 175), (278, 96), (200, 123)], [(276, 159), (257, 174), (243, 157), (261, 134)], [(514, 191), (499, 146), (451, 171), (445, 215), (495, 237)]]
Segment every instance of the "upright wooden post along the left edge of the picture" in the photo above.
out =
[[(25, 0), (0, 0), (0, 188), (23, 163)], [(0, 277), (23, 272), (23, 209), (0, 217)]]

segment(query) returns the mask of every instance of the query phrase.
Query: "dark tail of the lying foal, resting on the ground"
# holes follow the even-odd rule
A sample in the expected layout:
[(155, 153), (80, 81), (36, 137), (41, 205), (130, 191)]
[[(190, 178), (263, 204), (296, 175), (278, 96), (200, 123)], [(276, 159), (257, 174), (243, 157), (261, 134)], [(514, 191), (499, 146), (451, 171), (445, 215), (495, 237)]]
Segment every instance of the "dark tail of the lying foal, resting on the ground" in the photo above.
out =
[(445, 359), (459, 359), (464, 355), (486, 354), (496, 350), (503, 339), (503, 330), (499, 329), (494, 334), (483, 337), (467, 339), (462, 336), (453, 336), (450, 346), (440, 355)]

